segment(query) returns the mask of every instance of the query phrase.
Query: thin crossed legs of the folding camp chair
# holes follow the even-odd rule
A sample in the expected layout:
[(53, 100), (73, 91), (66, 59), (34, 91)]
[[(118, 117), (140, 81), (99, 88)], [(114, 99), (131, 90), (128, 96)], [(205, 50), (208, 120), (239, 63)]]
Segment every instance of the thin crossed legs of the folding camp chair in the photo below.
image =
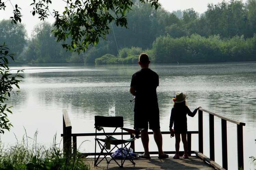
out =
[[(98, 140), (97, 140), (97, 141), (98, 141)], [(129, 145), (129, 143), (131, 143), (131, 142), (128, 142), (126, 145), (125, 145), (125, 143), (124, 143), (124, 148), (127, 149), (127, 145)], [(133, 160), (132, 160), (132, 158), (131, 158), (131, 155), (130, 155), (130, 153), (129, 153), (129, 150), (130, 150), (131, 146), (129, 147), (129, 149), (127, 149), (128, 152), (126, 153), (124, 160), (123, 160), (123, 157), (122, 157), (122, 159), (121, 159), (121, 165), (119, 165), (119, 164), (117, 163), (117, 161), (115, 160), (115, 157), (116, 157), (117, 154), (119, 154), (120, 152), (122, 152), (122, 150), (119, 149), (119, 148), (117, 147), (117, 145), (115, 145), (115, 147), (114, 147), (111, 151), (108, 152), (108, 151), (105, 149), (106, 143), (104, 143), (104, 145), (102, 145), (102, 144), (98, 141), (98, 144), (99, 144), (99, 147), (100, 147), (100, 149), (101, 149), (101, 152), (100, 152), (100, 153), (103, 153), (103, 154), (104, 154), (103, 151), (105, 150), (105, 151), (106, 151), (106, 154), (104, 154), (104, 157), (103, 157), (99, 162), (98, 162), (98, 160), (99, 160), (99, 158), (100, 158), (101, 155), (99, 155), (99, 156), (97, 157), (97, 159), (96, 159), (96, 156), (95, 156), (94, 166), (97, 166), (103, 159), (106, 159), (106, 162), (107, 162), (108, 164), (110, 163), (111, 160), (114, 160), (115, 163), (116, 163), (119, 167), (123, 167), (126, 158), (128, 158), (128, 159), (130, 160), (130, 162), (131, 162), (133, 165), (135, 165), (135, 163), (133, 162)], [(118, 153), (117, 153), (115, 156), (112, 156), (110, 153), (111, 153), (115, 148), (118, 148), (119, 151), (118, 151)], [(123, 148), (122, 148), (122, 149), (123, 149)], [(96, 151), (95, 151), (95, 153), (96, 153)], [(122, 153), (123, 153), (123, 152), (122, 152)], [(129, 154), (129, 157), (128, 157), (128, 154)], [(108, 155), (110, 155), (110, 157), (111, 157), (111, 159), (110, 159), (109, 161), (108, 161), (107, 158), (106, 158), (106, 156), (108, 156)], [(123, 155), (122, 155), (122, 156), (123, 156)]]

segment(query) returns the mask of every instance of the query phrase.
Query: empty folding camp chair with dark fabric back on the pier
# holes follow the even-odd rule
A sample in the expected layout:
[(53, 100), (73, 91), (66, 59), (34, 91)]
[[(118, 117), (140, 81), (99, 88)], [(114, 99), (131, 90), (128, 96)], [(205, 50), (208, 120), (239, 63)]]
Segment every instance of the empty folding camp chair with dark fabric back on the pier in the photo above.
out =
[[(129, 143), (131, 143), (132, 141), (134, 141), (136, 139), (137, 136), (134, 136), (133, 138), (127, 139), (127, 140), (123, 140), (123, 126), (124, 126), (124, 120), (123, 117), (105, 117), (105, 116), (95, 116), (95, 158), (94, 158), (94, 165), (97, 166), (103, 159), (106, 159), (106, 162), (109, 164), (112, 160), (114, 160), (116, 162), (116, 164), (119, 167), (123, 167), (125, 160), (128, 158), (130, 160), (130, 162), (134, 165), (135, 163), (133, 162), (131, 155), (129, 153), (129, 150), (131, 148), (131, 146), (129, 147), (129, 149), (127, 149), (127, 146), (129, 145)], [(105, 133), (104, 129), (102, 127), (108, 127), (108, 128), (115, 128), (113, 133)], [(122, 129), (122, 133), (118, 133), (118, 135), (122, 136), (122, 139), (116, 139), (114, 137), (112, 137), (115, 134), (115, 131), (117, 128)], [(104, 135), (106, 136), (105, 139), (99, 139), (97, 138), (97, 130), (101, 131), (103, 130)], [(134, 133), (139, 132), (138, 130), (133, 130)], [(107, 135), (110, 134), (110, 135)], [(98, 145), (101, 149), (101, 152), (99, 154), (99, 156), (96, 159), (96, 143), (98, 142)], [(104, 144), (102, 145), (101, 142), (104, 142)], [(114, 145), (115, 147), (112, 148), (110, 150), (110, 145)], [(118, 148), (117, 145), (122, 145), (121, 148)], [(123, 147), (124, 145), (124, 147)], [(115, 156), (112, 156), (110, 153), (117, 148), (119, 151), (117, 152), (117, 154)], [(107, 149), (109, 149), (110, 151), (107, 151)], [(127, 150), (127, 153), (124, 154), (123, 149)], [(103, 152), (106, 151), (106, 152)], [(121, 153), (121, 164), (118, 164), (117, 160), (116, 160), (116, 156)], [(104, 157), (99, 160), (101, 155), (104, 155)], [(110, 160), (108, 160), (106, 158), (106, 156), (110, 156)], [(123, 158), (123, 155), (125, 156)]]

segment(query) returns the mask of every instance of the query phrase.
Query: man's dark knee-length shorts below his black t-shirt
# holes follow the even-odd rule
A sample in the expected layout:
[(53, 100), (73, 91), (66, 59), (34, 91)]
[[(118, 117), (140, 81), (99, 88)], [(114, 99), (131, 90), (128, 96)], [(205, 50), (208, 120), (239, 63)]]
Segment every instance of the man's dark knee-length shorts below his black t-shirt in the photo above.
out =
[(148, 124), (151, 130), (160, 129), (159, 109), (147, 112), (134, 112), (134, 129), (148, 129)]

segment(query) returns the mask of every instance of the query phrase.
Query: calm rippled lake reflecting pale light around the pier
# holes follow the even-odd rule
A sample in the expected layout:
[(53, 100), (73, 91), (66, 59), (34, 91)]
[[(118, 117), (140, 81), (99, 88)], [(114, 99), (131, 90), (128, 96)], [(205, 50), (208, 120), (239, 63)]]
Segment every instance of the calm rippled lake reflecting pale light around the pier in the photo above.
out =
[[(159, 75), (157, 88), (161, 131), (169, 130), (169, 120), (175, 92), (187, 95), (191, 111), (202, 106), (209, 111), (246, 123), (243, 128), (244, 166), (252, 168), (249, 156), (256, 156), (256, 63), (217, 64), (150, 64)], [(62, 111), (66, 108), (73, 133), (94, 133), (94, 116), (109, 116), (115, 106), (115, 116), (123, 116), (124, 124), (133, 128), (133, 106), (129, 94), (133, 73), (139, 65), (11, 65), (13, 72), (25, 69), (20, 94), (12, 97), (9, 120), (14, 128), (1, 135), (4, 143), (15, 143), (15, 135), (22, 140), (25, 134), (37, 142), (49, 145), (62, 134)], [(203, 115), (204, 154), (209, 156), (209, 114)], [(237, 126), (228, 127), (228, 167), (237, 169)], [(198, 131), (198, 115), (188, 117), (188, 131)], [(14, 135), (15, 134), (15, 135)], [(85, 141), (88, 140), (88, 141)], [(136, 150), (143, 151), (136, 141)], [(82, 152), (94, 152), (94, 137), (78, 137), (77, 145), (85, 141)], [(175, 139), (163, 135), (163, 150), (174, 151)], [(180, 146), (183, 150), (181, 142)], [(153, 135), (150, 150), (157, 151)], [(192, 150), (198, 150), (198, 135), (192, 134)], [(221, 119), (215, 117), (215, 162), (222, 165)]]

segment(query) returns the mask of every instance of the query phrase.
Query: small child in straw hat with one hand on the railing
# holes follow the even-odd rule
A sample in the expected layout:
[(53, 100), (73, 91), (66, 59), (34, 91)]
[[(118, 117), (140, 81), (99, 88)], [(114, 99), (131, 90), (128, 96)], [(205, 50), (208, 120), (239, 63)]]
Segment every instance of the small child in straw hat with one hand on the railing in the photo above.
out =
[(173, 108), (171, 111), (170, 118), (170, 131), (172, 131), (172, 124), (174, 123), (174, 134), (175, 134), (175, 149), (176, 154), (173, 156), (174, 159), (179, 159), (179, 150), (180, 150), (180, 142), (182, 139), (184, 146), (184, 155), (183, 158), (188, 158), (187, 154), (187, 115), (194, 117), (197, 113), (197, 110), (200, 107), (197, 107), (192, 113), (187, 107), (186, 103), (186, 95), (182, 92), (176, 92), (173, 100)]

